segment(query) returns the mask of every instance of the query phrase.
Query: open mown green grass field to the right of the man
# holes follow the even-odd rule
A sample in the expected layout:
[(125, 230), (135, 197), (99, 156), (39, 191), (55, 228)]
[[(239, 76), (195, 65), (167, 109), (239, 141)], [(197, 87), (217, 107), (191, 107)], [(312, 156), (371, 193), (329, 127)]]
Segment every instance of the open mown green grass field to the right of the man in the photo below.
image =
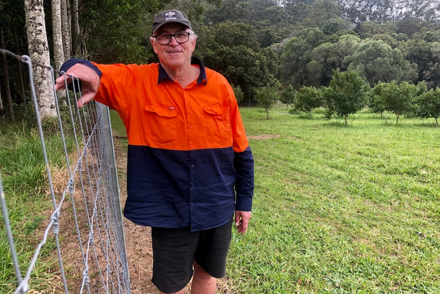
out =
[[(254, 208), (233, 235), (239, 293), (440, 293), (440, 129), (368, 111), (323, 121), (241, 108)], [(257, 138), (257, 137), (256, 137)]]

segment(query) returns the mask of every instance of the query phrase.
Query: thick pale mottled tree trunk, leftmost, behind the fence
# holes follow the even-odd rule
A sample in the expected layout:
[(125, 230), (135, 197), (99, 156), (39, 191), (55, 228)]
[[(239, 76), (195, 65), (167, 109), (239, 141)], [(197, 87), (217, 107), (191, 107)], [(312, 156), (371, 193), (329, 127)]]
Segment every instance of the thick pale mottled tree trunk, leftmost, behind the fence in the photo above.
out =
[[(25, 0), (26, 27), (29, 55), (33, 61), (51, 64), (47, 44), (46, 26), (42, 0)], [(33, 66), (34, 86), (37, 95), (40, 119), (55, 117), (55, 97), (51, 73), (40, 66)]]

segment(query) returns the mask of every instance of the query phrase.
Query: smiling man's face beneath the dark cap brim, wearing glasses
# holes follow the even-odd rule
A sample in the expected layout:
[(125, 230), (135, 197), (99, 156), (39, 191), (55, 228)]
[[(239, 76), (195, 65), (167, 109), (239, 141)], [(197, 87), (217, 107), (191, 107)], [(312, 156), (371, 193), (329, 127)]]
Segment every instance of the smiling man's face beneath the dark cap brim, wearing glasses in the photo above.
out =
[[(160, 34), (176, 34), (189, 32), (189, 28), (184, 25), (170, 22), (159, 28), (154, 36)], [(156, 38), (151, 39), (153, 50), (159, 57), (160, 63), (166, 67), (180, 67), (184, 64), (190, 64), (191, 54), (195, 49), (195, 38), (189, 36), (189, 40), (185, 43), (177, 42), (175, 37), (171, 37), (168, 44), (159, 44)]]

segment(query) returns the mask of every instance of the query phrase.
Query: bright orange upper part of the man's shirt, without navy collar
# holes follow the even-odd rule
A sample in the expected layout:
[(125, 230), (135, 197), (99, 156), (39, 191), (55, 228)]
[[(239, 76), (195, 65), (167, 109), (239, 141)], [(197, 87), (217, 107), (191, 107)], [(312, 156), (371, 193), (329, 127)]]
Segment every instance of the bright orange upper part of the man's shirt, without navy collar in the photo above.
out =
[(163, 79), (159, 64), (96, 64), (102, 71), (95, 100), (118, 111), (131, 145), (170, 150), (234, 147), (246, 137), (233, 90), (220, 74), (206, 69), (207, 83), (182, 88)]

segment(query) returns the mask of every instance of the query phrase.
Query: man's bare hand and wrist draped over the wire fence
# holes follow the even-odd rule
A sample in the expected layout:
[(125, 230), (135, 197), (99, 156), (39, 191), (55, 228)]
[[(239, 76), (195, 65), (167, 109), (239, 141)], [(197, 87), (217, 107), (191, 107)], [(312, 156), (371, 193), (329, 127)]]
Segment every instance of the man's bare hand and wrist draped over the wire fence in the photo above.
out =
[(95, 97), (100, 87), (100, 77), (90, 69), (90, 67), (77, 63), (67, 70), (66, 75), (62, 75), (55, 80), (55, 90), (58, 92), (66, 88), (64, 79), (67, 79), (67, 84), (72, 82), (69, 76), (77, 77), (81, 81), (82, 98), (78, 99), (78, 107), (83, 107), (84, 104), (91, 101)]

